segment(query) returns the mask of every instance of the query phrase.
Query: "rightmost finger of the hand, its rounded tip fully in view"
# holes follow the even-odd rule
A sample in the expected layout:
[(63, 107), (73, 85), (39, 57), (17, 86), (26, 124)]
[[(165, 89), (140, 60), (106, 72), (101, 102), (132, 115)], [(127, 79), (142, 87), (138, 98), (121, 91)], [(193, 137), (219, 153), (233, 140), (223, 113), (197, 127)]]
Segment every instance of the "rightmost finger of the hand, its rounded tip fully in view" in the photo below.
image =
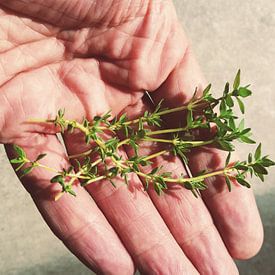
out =
[[(205, 169), (215, 171), (224, 168), (227, 156), (214, 148), (196, 149), (191, 154), (190, 168), (194, 175)], [(237, 160), (240, 158), (234, 154), (232, 161)], [(263, 227), (253, 191), (233, 181), (229, 192), (224, 177), (207, 179), (206, 183), (209, 188), (202, 192), (203, 199), (217, 221), (217, 228), (223, 232), (232, 257), (253, 257), (263, 243)]]

